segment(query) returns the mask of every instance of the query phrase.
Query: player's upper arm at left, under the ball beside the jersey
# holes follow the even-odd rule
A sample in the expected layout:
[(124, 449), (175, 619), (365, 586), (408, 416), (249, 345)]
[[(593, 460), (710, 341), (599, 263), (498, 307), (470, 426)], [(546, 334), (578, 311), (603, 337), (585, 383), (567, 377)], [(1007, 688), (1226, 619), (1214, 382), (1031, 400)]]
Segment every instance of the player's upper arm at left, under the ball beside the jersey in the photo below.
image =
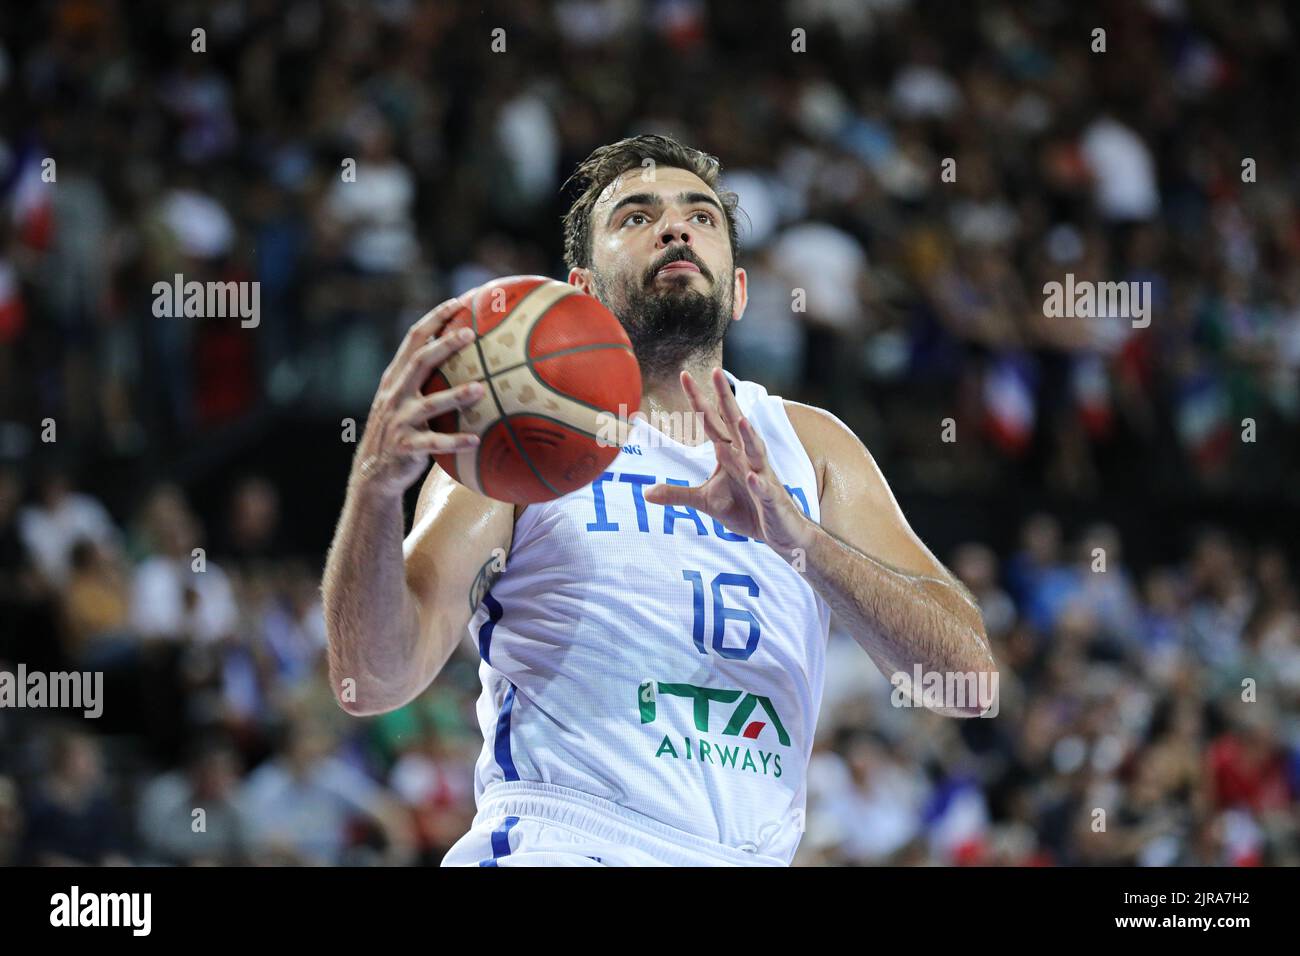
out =
[(486, 498), (434, 464), (403, 542), (406, 580), (420, 609), (425, 685), (464, 636), (482, 594), (506, 568), (516, 506)]

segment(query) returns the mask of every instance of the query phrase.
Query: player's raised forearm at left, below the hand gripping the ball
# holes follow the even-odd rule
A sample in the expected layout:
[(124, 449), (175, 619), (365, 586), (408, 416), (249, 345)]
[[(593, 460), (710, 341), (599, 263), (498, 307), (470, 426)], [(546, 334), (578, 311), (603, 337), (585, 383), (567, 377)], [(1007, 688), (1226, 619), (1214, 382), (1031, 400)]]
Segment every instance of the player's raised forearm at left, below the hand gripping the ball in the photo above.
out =
[(348, 713), (391, 710), (428, 683), (403, 529), (400, 496), (374, 494), (355, 480), (348, 485), (321, 585), (330, 684)]

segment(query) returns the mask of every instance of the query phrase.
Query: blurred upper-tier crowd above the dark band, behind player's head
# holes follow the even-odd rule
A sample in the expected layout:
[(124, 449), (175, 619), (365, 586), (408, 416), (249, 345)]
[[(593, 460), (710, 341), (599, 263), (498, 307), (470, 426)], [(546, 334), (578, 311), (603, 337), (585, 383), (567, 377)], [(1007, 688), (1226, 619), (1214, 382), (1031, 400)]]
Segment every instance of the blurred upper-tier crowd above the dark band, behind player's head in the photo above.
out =
[[(751, 304), (728, 362), (833, 408), (901, 477), (1095, 494), (1140, 463), (1164, 488), (1291, 492), (1300, 70), (1280, 0), (3, 16), (9, 445), (44, 416), (130, 457), (268, 408), (361, 411), (432, 303), (562, 276), (568, 172), (662, 131), (719, 155), (741, 198)], [(259, 281), (264, 320), (160, 321), (153, 284), (176, 274)], [(1149, 284), (1149, 328), (1045, 316), (1066, 274)]]

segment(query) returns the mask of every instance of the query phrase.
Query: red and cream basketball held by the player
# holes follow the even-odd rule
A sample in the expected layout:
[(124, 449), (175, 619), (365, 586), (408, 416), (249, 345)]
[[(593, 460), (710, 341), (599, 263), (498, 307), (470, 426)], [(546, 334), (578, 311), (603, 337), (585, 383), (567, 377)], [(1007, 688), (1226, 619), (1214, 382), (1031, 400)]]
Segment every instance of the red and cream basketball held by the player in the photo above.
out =
[(425, 382), (424, 393), (481, 381), (486, 394), (430, 421), (472, 432), (477, 447), (437, 455), (480, 494), (519, 505), (551, 501), (594, 481), (641, 407), (641, 368), (614, 313), (567, 282), (511, 276), (460, 297), (442, 334), (477, 338)]

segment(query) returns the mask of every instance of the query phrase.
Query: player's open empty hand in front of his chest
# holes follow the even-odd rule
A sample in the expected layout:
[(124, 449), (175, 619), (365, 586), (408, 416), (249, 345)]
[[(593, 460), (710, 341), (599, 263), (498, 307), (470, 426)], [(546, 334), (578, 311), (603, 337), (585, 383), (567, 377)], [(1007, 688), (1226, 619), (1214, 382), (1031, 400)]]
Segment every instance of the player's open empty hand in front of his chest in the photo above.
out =
[(714, 442), (718, 467), (702, 485), (654, 485), (646, 490), (646, 501), (703, 511), (728, 531), (762, 538), (783, 558), (794, 561), (807, 549), (815, 525), (772, 471), (767, 446), (741, 412), (727, 376), (715, 367), (711, 380), (716, 407), (690, 372), (681, 373), (681, 388), (696, 419)]

